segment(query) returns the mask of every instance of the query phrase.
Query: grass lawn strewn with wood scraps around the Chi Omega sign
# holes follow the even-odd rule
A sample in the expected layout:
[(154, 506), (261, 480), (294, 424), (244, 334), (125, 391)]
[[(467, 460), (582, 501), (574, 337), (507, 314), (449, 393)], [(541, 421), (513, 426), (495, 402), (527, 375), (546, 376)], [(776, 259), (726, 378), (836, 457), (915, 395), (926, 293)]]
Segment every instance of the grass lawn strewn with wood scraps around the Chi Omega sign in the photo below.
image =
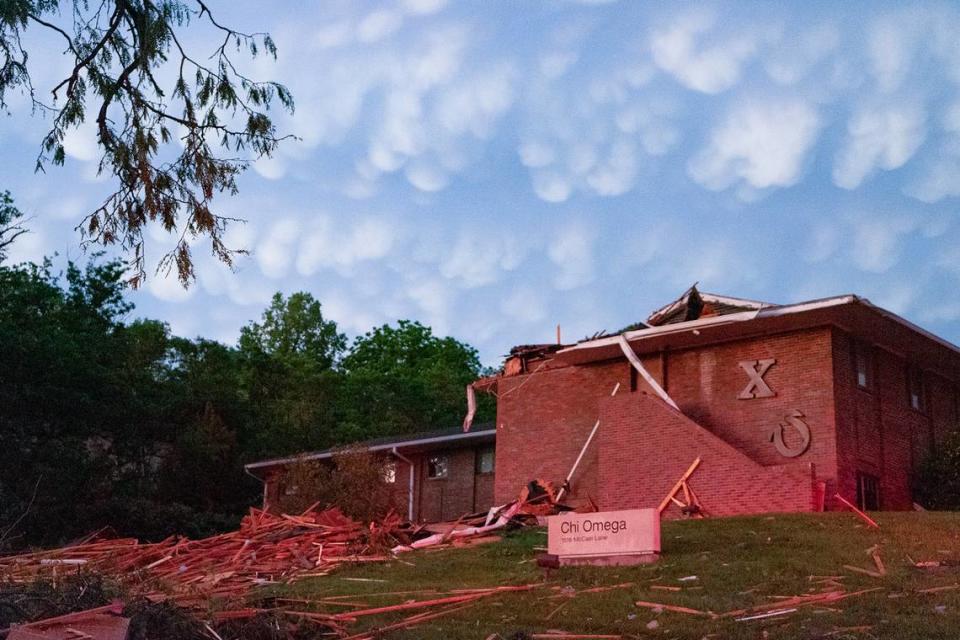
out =
[[(349, 594), (355, 596), (351, 601), (380, 606), (440, 597), (455, 589), (543, 585), (529, 592), (498, 594), (419, 627), (384, 633), (384, 638), (484, 640), (499, 634), (508, 639), (522, 638), (518, 632), (549, 630), (625, 638), (960, 638), (960, 589), (918, 593), (957, 584), (960, 566), (918, 569), (908, 560), (909, 556), (915, 561), (960, 564), (960, 513), (871, 515), (880, 523), (879, 530), (867, 528), (849, 513), (665, 522), (663, 551), (656, 564), (563, 568), (550, 571), (546, 578), (533, 561), (546, 546), (546, 531), (524, 529), (497, 543), (417, 551), (387, 564), (346, 567), (284, 587), (282, 595), (311, 599)], [(885, 576), (843, 568), (846, 564), (876, 570), (866, 550), (878, 543)], [(696, 579), (681, 580), (688, 576)], [(838, 582), (845, 591), (880, 589), (745, 622), (658, 612), (635, 604), (655, 601), (723, 613), (768, 604), (776, 596), (837, 589), (811, 576), (841, 576)], [(583, 592), (628, 582), (633, 584)], [(437, 594), (374, 595), (420, 590)], [(316, 610), (341, 613), (350, 605), (320, 605)], [(418, 612), (361, 618), (351, 629), (383, 626)]]

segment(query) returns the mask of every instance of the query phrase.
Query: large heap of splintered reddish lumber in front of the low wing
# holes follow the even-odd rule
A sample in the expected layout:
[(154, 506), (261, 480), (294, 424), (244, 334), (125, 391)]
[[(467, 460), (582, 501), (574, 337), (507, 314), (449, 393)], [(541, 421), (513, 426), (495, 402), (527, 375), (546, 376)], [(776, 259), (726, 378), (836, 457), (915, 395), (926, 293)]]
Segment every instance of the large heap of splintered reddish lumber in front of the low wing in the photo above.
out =
[[(156, 543), (90, 537), (57, 549), (0, 557), (0, 580), (31, 582), (84, 571), (110, 577), (135, 592), (184, 606), (240, 600), (259, 585), (329, 573), (345, 562), (377, 562), (423, 547), (490, 541), (491, 532), (535, 521), (546, 501), (520, 500), (456, 522), (418, 526), (390, 514), (364, 525), (339, 509), (274, 515), (251, 509), (239, 529)], [(222, 604), (222, 603), (221, 603)]]

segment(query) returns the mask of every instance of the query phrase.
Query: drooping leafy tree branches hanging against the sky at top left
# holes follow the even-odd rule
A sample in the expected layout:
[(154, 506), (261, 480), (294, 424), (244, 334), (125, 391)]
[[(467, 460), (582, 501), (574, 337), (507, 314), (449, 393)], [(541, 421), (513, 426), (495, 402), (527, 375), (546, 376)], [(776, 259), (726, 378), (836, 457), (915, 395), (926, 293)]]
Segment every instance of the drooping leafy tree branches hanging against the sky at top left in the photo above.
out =
[[(212, 54), (185, 45), (191, 22), (215, 32)], [(49, 87), (49, 100), (31, 77), (26, 43), (34, 29), (62, 38), (71, 61), (68, 75)], [(282, 140), (270, 106), (293, 109), (283, 85), (237, 70), (231, 55), (241, 50), (276, 57), (269, 35), (224, 26), (203, 0), (0, 2), (0, 107), (19, 89), (34, 112), (52, 118), (38, 170), (63, 164), (70, 129), (95, 124), (100, 171), (116, 188), (82, 227), (88, 242), (132, 253), (135, 285), (145, 275), (143, 229), (153, 221), (178, 235), (161, 268), (175, 267), (184, 284), (194, 275), (192, 237), (208, 236), (213, 254), (228, 264), (236, 253), (223, 242), (229, 219), (212, 210), (214, 195), (236, 193), (251, 156), (269, 156)]]

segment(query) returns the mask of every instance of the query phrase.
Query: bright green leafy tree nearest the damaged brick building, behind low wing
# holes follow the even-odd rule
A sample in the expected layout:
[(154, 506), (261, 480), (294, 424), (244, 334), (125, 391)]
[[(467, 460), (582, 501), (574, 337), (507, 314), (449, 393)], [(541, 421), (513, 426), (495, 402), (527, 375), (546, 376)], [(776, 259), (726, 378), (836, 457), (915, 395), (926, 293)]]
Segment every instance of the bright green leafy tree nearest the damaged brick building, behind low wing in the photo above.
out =
[[(481, 372), (476, 349), (409, 320), (358, 337), (342, 366), (344, 441), (458, 424), (464, 388)], [(491, 415), (488, 404), (479, 407), (478, 420)]]

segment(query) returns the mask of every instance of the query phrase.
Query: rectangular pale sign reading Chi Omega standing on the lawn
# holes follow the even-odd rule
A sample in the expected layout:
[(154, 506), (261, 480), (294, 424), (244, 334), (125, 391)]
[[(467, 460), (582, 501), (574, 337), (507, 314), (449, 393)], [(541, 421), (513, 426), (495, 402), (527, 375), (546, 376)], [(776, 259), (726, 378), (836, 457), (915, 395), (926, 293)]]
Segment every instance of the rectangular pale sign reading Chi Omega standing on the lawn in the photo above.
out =
[(660, 514), (628, 509), (551, 516), (547, 550), (561, 564), (650, 562), (660, 553)]

